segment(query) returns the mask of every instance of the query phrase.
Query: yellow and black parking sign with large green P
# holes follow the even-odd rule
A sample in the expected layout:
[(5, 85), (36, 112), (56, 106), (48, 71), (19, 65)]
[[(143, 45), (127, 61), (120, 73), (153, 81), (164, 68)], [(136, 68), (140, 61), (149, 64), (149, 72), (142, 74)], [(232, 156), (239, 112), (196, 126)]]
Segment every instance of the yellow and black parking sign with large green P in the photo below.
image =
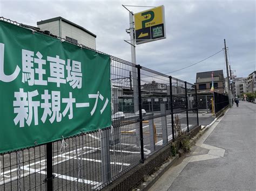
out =
[(134, 14), (136, 44), (166, 38), (164, 5)]

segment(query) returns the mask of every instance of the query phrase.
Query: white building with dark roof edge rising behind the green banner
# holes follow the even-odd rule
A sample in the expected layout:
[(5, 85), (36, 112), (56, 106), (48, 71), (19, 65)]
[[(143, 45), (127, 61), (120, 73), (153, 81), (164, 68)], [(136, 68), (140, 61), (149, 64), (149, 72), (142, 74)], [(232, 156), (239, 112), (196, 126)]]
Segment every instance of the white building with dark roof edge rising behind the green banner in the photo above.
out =
[(42, 31), (69, 40), (73, 43), (96, 49), (96, 35), (86, 30), (84, 27), (70, 22), (62, 17), (55, 17), (37, 22), (37, 26)]

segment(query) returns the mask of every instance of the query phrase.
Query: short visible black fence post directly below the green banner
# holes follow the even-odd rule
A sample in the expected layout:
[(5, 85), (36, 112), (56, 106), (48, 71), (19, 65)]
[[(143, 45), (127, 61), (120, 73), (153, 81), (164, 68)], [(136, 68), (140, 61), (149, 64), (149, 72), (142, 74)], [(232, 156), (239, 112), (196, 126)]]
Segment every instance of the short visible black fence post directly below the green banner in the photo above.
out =
[(48, 191), (53, 190), (53, 174), (52, 174), (52, 142), (46, 143), (46, 186)]

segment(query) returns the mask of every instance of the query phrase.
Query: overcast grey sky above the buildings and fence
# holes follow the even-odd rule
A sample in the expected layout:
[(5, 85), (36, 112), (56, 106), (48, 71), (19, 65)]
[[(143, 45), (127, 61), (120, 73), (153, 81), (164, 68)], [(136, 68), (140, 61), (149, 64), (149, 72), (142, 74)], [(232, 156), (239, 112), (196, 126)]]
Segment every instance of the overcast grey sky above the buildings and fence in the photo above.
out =
[[(220, 51), (226, 39), (231, 69), (238, 77), (255, 70), (255, 1), (2, 1), (0, 16), (36, 26), (40, 20), (64, 17), (95, 33), (99, 51), (131, 61), (129, 12), (122, 6), (165, 6), (166, 39), (138, 45), (137, 64), (168, 73)], [(149, 8), (129, 7), (134, 13)], [(224, 53), (170, 73), (191, 83), (196, 73), (223, 69)]]

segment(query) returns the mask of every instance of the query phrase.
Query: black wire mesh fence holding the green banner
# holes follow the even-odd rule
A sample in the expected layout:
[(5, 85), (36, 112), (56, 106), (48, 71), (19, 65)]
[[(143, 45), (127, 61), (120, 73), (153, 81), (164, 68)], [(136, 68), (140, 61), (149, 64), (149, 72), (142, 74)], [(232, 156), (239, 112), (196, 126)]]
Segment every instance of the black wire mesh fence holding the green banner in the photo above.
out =
[[(112, 126), (1, 153), (0, 190), (104, 188), (173, 140), (174, 115), (184, 131), (198, 125), (194, 88), (111, 56)], [(215, 100), (225, 107), (226, 97)]]

